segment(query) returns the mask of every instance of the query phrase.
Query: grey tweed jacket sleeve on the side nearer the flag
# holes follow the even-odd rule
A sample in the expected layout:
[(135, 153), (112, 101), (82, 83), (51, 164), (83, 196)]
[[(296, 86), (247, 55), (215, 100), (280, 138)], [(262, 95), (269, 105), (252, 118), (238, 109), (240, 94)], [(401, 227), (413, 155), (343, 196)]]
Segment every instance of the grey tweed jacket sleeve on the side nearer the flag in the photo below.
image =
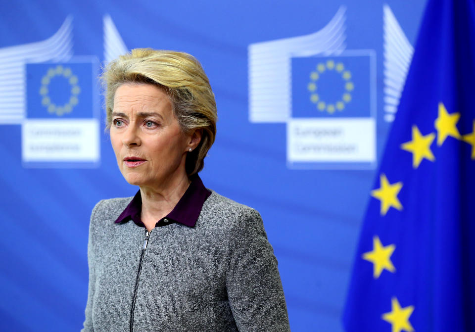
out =
[(230, 231), (226, 287), (239, 332), (290, 331), (277, 259), (256, 210)]

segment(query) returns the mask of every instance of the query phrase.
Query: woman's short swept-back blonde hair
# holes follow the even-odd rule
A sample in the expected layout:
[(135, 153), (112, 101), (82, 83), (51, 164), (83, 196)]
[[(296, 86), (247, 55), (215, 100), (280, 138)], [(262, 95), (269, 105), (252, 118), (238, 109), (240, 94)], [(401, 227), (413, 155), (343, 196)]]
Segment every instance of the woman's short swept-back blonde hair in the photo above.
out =
[(190, 176), (203, 169), (204, 157), (216, 136), (216, 102), (198, 60), (185, 52), (136, 48), (111, 61), (101, 75), (105, 88), (107, 129), (112, 123), (114, 95), (124, 83), (152, 84), (164, 89), (184, 133), (201, 130), (201, 142), (187, 155)]

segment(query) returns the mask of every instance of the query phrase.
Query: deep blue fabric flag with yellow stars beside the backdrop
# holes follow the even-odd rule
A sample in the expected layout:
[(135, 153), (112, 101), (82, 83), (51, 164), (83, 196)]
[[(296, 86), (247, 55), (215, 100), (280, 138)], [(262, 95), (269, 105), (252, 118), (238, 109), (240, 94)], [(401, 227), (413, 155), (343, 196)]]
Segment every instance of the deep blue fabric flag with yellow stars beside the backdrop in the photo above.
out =
[(475, 331), (474, 0), (429, 0), (355, 257), (354, 331)]

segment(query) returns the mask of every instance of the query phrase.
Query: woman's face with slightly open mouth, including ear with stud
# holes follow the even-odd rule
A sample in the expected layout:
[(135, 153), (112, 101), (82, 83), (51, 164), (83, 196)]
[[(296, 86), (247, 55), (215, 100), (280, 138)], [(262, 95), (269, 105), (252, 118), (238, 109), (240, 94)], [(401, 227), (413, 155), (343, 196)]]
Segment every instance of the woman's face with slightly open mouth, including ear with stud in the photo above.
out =
[(186, 176), (187, 151), (197, 144), (182, 132), (167, 94), (149, 84), (117, 89), (110, 141), (127, 182), (152, 188)]

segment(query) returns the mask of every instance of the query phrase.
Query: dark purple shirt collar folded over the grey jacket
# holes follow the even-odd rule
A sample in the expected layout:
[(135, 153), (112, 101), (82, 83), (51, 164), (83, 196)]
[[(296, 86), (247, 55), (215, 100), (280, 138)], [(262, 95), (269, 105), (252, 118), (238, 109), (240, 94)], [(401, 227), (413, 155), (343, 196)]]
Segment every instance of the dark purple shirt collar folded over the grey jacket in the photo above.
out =
[[(211, 195), (211, 191), (207, 190), (198, 174), (190, 177), (191, 183), (182, 198), (178, 201), (173, 210), (162, 219), (158, 220), (155, 226), (165, 226), (170, 223), (178, 222), (180, 224), (194, 227), (198, 219), (204, 201)], [(137, 226), (145, 227), (140, 214), (142, 212), (142, 196), (140, 190), (135, 194), (129, 205), (122, 211), (119, 218), (115, 221), (118, 223), (126, 223), (133, 220)]]

